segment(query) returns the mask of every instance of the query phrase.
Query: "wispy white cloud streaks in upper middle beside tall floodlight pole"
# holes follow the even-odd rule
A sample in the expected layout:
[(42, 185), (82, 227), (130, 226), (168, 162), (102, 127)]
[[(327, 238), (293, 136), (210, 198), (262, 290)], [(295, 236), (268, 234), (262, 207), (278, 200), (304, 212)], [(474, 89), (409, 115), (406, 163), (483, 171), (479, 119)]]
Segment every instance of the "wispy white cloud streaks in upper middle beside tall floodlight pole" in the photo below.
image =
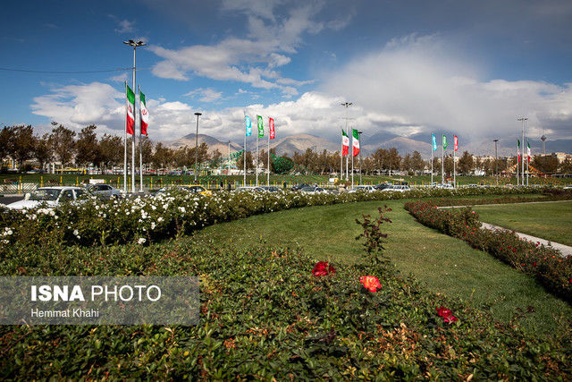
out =
[[(300, 2), (301, 3), (301, 2)], [(214, 45), (195, 45), (179, 49), (152, 46), (150, 50), (163, 60), (152, 72), (161, 78), (189, 80), (189, 75), (216, 81), (239, 81), (261, 89), (280, 89), (285, 97), (298, 95), (308, 81), (282, 78), (275, 68), (290, 64), (291, 56), (303, 44), (306, 34), (324, 29), (339, 29), (344, 22), (316, 21), (324, 2), (296, 4), (286, 12), (275, 8), (282, 1), (223, 1), (223, 12), (244, 13), (248, 35), (245, 38), (223, 38)]]

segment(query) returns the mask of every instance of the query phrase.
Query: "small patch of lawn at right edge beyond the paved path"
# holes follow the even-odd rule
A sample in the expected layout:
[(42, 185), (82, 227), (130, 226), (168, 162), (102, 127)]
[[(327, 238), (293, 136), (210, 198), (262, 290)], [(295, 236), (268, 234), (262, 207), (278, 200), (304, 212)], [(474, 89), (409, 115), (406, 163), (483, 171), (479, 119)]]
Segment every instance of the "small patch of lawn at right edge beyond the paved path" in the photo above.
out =
[(504, 206), (477, 206), (485, 223), (572, 245), (572, 201)]

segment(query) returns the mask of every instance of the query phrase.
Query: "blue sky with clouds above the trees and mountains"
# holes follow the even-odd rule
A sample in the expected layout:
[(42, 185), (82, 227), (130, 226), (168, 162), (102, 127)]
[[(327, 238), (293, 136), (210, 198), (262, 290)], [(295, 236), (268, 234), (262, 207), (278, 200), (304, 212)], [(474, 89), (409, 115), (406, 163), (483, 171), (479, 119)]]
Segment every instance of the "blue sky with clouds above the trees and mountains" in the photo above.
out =
[[(95, 123), (122, 133), (122, 81), (147, 95), (152, 139), (201, 131), (240, 141), (242, 116), (278, 137), (338, 140), (457, 132), (467, 147), (528, 135), (572, 140), (569, 1), (29, 1), (4, 4), (0, 123)], [(110, 72), (95, 72), (110, 71)], [(93, 73), (80, 73), (93, 72)], [(471, 146), (472, 145), (472, 146)]]

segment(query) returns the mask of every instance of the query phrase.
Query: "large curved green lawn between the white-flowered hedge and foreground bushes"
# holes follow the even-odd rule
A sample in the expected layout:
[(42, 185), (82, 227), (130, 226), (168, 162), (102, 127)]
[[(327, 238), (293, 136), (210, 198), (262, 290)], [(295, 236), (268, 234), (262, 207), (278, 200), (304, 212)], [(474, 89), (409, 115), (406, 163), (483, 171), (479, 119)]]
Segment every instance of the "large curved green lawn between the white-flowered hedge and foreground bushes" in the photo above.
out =
[[(387, 255), (403, 274), (411, 274), (434, 293), (489, 307), (502, 322), (533, 307), (534, 313), (525, 314), (523, 326), (545, 333), (558, 327), (554, 316), (572, 316), (566, 302), (546, 293), (532, 277), (465, 242), (418, 224), (402, 208), (403, 201), (385, 204), (392, 208), (389, 216), (393, 221), (382, 229), (389, 233)], [(251, 248), (256, 242), (300, 247), (315, 259), (350, 265), (362, 261), (355, 219), (376, 215), (380, 206), (383, 203), (362, 202), (281, 211), (209, 226), (195, 237), (237, 249)]]

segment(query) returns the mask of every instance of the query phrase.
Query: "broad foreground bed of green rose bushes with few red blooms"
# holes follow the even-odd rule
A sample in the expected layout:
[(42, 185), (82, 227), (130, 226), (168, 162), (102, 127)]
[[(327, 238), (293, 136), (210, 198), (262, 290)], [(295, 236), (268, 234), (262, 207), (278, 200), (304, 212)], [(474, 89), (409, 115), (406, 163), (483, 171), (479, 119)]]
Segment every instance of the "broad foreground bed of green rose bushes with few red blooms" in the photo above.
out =
[(18, 247), (4, 249), (2, 275), (198, 275), (201, 315), (195, 327), (0, 327), (5, 379), (572, 378), (566, 338), (526, 334), (383, 267), (191, 238)]

